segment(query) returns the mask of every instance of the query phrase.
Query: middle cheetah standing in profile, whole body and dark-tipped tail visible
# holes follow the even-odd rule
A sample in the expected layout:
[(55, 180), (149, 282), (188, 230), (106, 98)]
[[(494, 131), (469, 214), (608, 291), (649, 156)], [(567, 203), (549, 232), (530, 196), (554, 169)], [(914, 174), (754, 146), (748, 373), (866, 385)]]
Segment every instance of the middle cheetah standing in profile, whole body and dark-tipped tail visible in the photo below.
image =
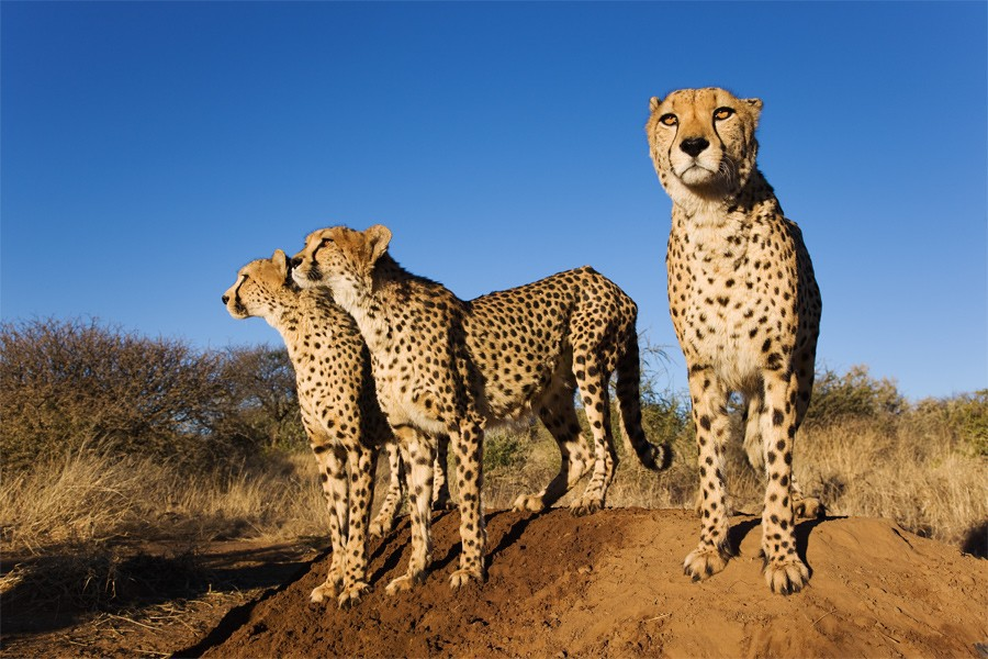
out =
[[(310, 234), (293, 259), (303, 288), (328, 286), (357, 321), (371, 353), (378, 396), (402, 451), (408, 454), (413, 556), (389, 584), (405, 590), (430, 562), (429, 435), (448, 433), (457, 456), (463, 551), (452, 588), (484, 580), (481, 505), (483, 429), (537, 414), (555, 437), (559, 473), (516, 509), (540, 511), (565, 494), (590, 467), (575, 413), (583, 396), (594, 438), (594, 469), (576, 514), (604, 505), (617, 455), (610, 437), (608, 381), (617, 371), (622, 436), (641, 462), (669, 466), (666, 447), (641, 429), (638, 309), (616, 284), (584, 267), (520, 288), (463, 301), (444, 286), (409, 273), (388, 253), (391, 231), (344, 226)], [(418, 498), (418, 499), (416, 499)]]

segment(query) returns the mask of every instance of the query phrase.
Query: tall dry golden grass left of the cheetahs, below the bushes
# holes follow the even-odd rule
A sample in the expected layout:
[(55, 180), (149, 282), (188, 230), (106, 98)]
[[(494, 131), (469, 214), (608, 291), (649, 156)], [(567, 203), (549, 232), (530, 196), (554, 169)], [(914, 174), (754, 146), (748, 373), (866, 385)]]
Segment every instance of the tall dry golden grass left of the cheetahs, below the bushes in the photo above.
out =
[(0, 483), (7, 551), (142, 540), (322, 536), (311, 455), (280, 454), (215, 471), (72, 450)]

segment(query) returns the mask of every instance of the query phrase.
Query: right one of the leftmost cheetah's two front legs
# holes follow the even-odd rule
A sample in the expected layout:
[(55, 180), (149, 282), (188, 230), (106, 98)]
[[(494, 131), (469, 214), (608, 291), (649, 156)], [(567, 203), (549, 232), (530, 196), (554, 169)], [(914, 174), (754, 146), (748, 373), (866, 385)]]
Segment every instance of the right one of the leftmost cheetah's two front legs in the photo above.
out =
[[(356, 438), (355, 438), (356, 439)], [(348, 453), (350, 468), (350, 526), (347, 533), (347, 563), (339, 607), (349, 608), (360, 602), (368, 591), (367, 537), (373, 499), (374, 471), (378, 451), (357, 444)]]

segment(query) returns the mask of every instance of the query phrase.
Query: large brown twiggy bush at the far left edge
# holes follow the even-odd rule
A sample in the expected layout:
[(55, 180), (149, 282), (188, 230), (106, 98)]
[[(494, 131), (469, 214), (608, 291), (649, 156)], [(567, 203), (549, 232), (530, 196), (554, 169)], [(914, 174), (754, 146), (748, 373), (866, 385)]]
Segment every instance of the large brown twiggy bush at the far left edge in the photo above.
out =
[(96, 320), (0, 326), (0, 450), (19, 467), (83, 445), (171, 453), (200, 436), (221, 388), (215, 355)]

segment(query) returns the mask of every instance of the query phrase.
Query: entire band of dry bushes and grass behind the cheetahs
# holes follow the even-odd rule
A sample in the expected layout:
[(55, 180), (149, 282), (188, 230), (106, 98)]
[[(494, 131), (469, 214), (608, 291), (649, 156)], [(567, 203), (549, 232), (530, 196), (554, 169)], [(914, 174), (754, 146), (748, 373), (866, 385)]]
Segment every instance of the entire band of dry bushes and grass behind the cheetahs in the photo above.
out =
[[(656, 477), (622, 459), (613, 506), (693, 505), (688, 415), (658, 379), (653, 370), (644, 383), (647, 433), (673, 445), (674, 463)], [(3, 325), (0, 414), (0, 538), (5, 557), (30, 559), (4, 566), (4, 605), (49, 597), (100, 610), (149, 566), (170, 583), (197, 580), (205, 543), (324, 535), (283, 351), (198, 354), (94, 322)], [(824, 371), (798, 442), (797, 478), (830, 513), (891, 517), (985, 556), (988, 392), (910, 404), (865, 368)], [(558, 459), (540, 425), (491, 433), (486, 505), (541, 488)], [(757, 510), (761, 477), (739, 443), (728, 459), (736, 507)], [(148, 540), (184, 549), (135, 552)], [(61, 562), (45, 562), (56, 554)]]

